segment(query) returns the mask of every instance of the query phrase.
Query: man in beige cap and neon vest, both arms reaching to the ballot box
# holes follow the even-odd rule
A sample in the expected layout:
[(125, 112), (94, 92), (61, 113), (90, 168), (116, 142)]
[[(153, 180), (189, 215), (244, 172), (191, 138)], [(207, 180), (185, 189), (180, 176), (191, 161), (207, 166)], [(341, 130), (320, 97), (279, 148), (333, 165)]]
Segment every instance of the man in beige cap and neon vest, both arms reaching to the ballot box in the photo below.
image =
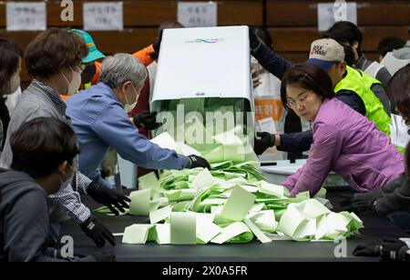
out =
[[(292, 63), (261, 44), (261, 41), (252, 32), (250, 32), (250, 42), (251, 55), (272, 75), (282, 79), (282, 75), (292, 67)], [(336, 98), (365, 115), (369, 120), (374, 121), (377, 128), (386, 135), (390, 135), (391, 119), (384, 111), (381, 101), (371, 90), (371, 85), (376, 80), (360, 70), (346, 65), (342, 45), (328, 38), (314, 41), (306, 64), (323, 68), (332, 79)], [(276, 145), (277, 149), (283, 152), (303, 152), (310, 149), (313, 141), (311, 130), (282, 135), (262, 132), (258, 133), (258, 136), (261, 138), (255, 139), (257, 155), (261, 155), (273, 145)]]

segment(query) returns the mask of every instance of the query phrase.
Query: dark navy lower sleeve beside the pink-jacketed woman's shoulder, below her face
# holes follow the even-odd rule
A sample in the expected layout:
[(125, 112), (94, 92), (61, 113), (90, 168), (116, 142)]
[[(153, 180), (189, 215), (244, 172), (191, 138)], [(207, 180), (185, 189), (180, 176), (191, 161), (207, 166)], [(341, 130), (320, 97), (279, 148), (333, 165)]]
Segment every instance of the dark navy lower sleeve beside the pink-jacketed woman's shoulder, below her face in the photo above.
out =
[(312, 130), (295, 132), (292, 134), (282, 134), (281, 145), (276, 146), (282, 152), (304, 152), (309, 151), (313, 142)]

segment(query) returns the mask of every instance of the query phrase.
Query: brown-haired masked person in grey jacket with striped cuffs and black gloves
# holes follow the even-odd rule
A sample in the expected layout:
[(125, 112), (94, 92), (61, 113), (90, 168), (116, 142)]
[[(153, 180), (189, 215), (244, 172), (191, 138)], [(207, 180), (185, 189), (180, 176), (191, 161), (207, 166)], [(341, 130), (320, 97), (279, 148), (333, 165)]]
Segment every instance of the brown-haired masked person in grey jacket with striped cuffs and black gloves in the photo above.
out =
[[(59, 93), (72, 95), (80, 84), (81, 59), (87, 55), (87, 45), (77, 35), (66, 30), (50, 28), (36, 36), (26, 48), (25, 60), (27, 72), (34, 80), (24, 91), (21, 100), (15, 106), (5, 139), (5, 148), (0, 158), (0, 167), (9, 168), (13, 162), (13, 150), (10, 145), (12, 135), (21, 125), (40, 116), (56, 117), (69, 122), (66, 116), (67, 105)], [(87, 176), (76, 172), (70, 185), (56, 194), (50, 195), (53, 205), (52, 235), (57, 240), (60, 221), (66, 212), (81, 226), (83, 231), (94, 240), (97, 246), (103, 246), (106, 240), (115, 245), (114, 236), (105, 225), (100, 223), (86, 205), (80, 200), (79, 193), (90, 195), (98, 203), (107, 205), (118, 214), (128, 207), (128, 197), (118, 194), (102, 185), (92, 182)], [(61, 207), (65, 211), (62, 210)]]

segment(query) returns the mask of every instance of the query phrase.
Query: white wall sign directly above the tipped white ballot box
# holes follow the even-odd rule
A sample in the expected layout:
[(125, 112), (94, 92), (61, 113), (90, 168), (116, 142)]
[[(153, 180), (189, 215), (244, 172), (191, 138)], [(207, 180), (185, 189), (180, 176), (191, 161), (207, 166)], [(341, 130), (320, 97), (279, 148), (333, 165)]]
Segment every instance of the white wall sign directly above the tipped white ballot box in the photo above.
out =
[(179, 2), (178, 21), (185, 27), (208, 27), (218, 25), (216, 2)]

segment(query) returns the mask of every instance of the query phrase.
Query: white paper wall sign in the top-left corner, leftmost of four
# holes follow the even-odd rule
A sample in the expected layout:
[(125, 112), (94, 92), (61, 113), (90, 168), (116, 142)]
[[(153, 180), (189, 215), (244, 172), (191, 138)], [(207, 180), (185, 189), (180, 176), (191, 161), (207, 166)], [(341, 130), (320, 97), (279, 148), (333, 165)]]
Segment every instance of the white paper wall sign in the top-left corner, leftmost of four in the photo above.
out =
[(7, 31), (46, 30), (46, 2), (7, 2)]

